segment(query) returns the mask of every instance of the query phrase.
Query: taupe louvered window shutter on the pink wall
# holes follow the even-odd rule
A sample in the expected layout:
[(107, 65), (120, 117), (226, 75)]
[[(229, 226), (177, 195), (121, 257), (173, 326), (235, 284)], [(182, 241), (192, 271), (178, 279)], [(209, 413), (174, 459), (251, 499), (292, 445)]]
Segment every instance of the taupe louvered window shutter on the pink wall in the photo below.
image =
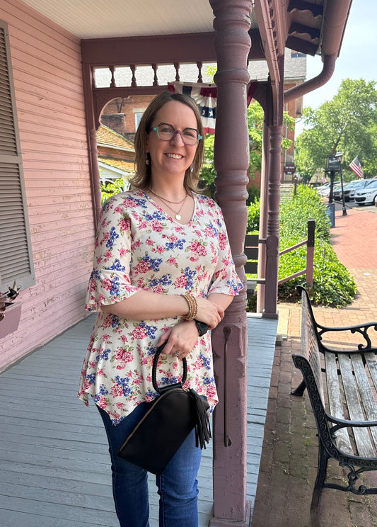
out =
[(35, 284), (8, 25), (0, 21), (0, 290)]

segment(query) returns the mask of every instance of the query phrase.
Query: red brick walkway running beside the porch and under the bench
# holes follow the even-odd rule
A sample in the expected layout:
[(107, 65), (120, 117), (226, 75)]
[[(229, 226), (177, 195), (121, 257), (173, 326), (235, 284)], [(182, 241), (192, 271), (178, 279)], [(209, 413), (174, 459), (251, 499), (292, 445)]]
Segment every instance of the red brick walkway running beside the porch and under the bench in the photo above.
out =
[[(340, 211), (335, 225), (332, 244), (354, 276), (359, 294), (342, 309), (314, 308), (315, 317), (334, 327), (377, 321), (377, 214), (361, 209), (342, 216)], [(279, 305), (279, 311), (287, 320), (288, 338), (275, 351), (253, 527), (309, 527), (318, 439), (308, 397), (290, 395), (301, 380), (291, 359), (291, 353), (300, 350), (301, 307)], [(334, 480), (344, 478), (346, 472), (337, 463), (330, 460), (329, 467)], [(376, 472), (364, 478), (377, 486)], [(375, 526), (377, 496), (323, 491), (318, 527)]]

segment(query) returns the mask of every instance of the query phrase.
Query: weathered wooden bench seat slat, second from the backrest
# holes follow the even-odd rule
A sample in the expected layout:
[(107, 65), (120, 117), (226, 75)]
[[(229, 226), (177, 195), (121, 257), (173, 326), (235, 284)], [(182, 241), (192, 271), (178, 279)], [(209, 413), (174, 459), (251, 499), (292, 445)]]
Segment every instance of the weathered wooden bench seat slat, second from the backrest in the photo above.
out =
[[(354, 375), (352, 374), (351, 359), (349, 356), (339, 353), (338, 360), (340, 364), (340, 371), (342, 373), (343, 389), (347, 400), (349, 419), (353, 421), (365, 421), (365, 416), (363, 414), (363, 410), (361, 409), (361, 404), (355, 385)], [(359, 456), (364, 458), (373, 458), (375, 453), (368, 431), (361, 428), (354, 428), (353, 431)]]

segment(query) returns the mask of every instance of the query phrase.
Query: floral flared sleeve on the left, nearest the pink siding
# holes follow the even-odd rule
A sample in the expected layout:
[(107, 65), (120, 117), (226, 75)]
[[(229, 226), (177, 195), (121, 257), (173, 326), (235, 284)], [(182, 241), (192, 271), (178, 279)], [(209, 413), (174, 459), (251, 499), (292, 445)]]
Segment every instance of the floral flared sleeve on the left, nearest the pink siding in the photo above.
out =
[(130, 279), (132, 251), (131, 220), (117, 196), (110, 198), (100, 214), (95, 239), (93, 271), (86, 294), (86, 310), (120, 302), (137, 293)]

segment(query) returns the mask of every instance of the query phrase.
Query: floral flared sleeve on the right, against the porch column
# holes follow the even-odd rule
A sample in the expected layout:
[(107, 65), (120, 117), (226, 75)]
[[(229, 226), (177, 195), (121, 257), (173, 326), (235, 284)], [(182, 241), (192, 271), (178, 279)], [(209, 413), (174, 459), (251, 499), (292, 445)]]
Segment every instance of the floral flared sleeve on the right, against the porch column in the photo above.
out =
[(222, 293), (224, 295), (236, 296), (243, 289), (243, 284), (238, 278), (236, 268), (231, 254), (231, 246), (221, 209), (216, 205), (217, 227), (219, 237), (219, 259), (217, 261), (214, 275), (208, 294)]

